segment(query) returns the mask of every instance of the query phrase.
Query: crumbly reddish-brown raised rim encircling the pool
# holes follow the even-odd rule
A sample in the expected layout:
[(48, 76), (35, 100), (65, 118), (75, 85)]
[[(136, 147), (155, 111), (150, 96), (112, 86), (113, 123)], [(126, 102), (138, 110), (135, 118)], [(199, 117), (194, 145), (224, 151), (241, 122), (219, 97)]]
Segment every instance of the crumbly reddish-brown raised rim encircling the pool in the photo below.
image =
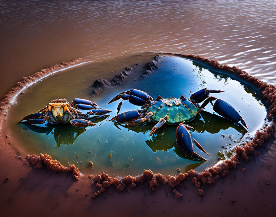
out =
[[(254, 138), (250, 142), (243, 143), (237, 146), (235, 149), (235, 154), (229, 160), (225, 160), (216, 166), (205, 169), (201, 173), (197, 173), (194, 170), (190, 170), (188, 173), (185, 173), (185, 174), (179, 173), (177, 176), (164, 176), (162, 174), (153, 174), (150, 170), (146, 170), (142, 175), (137, 177), (125, 176), (124, 178), (112, 178), (105, 173), (101, 175), (96, 175), (96, 176), (90, 175), (88, 177), (91, 178), (91, 184), (93, 184), (94, 182), (97, 182), (96, 183), (98, 184), (97, 188), (99, 189), (97, 192), (95, 192), (92, 195), (93, 198), (102, 194), (111, 185), (116, 186), (116, 189), (119, 191), (123, 191), (128, 185), (131, 188), (134, 188), (136, 187), (137, 184), (139, 183), (143, 184), (145, 182), (149, 183), (149, 186), (152, 188), (152, 190), (156, 190), (156, 187), (158, 187), (161, 183), (164, 185), (168, 184), (173, 189), (175, 189), (182, 182), (189, 179), (192, 180), (193, 184), (198, 188), (198, 193), (202, 196), (204, 195), (204, 191), (202, 189), (203, 185), (214, 184), (218, 178), (220, 178), (221, 176), (226, 176), (227, 174), (229, 174), (229, 171), (231, 169), (236, 168), (240, 164), (241, 160), (248, 161), (251, 155), (257, 156), (258, 152), (256, 152), (255, 149), (261, 146), (265, 141), (267, 141), (275, 132), (275, 125), (276, 125), (275, 123), (275, 114), (276, 114), (275, 86), (271, 84), (267, 84), (266, 82), (260, 81), (257, 78), (249, 75), (247, 72), (242, 71), (241, 69), (235, 66), (229, 67), (227, 65), (221, 65), (216, 60), (210, 60), (198, 55), (190, 55), (190, 54), (160, 53), (160, 55), (162, 54), (175, 55), (175, 56), (180, 56), (182, 58), (197, 61), (201, 64), (211, 66), (215, 71), (222, 70), (225, 73), (227, 73), (229, 76), (234, 76), (238, 80), (252, 85), (255, 89), (259, 90), (259, 92), (262, 94), (262, 98), (266, 101), (267, 106), (269, 107), (268, 118), (271, 121), (270, 125), (267, 126), (266, 129), (262, 131), (258, 130)], [(52, 74), (53, 72), (55, 72), (56, 70), (59, 70), (60, 68), (72, 66), (82, 61), (83, 60), (79, 59), (79, 60), (74, 60), (71, 63), (61, 63), (58, 65), (55, 65), (48, 69), (41, 70), (40, 72), (37, 72), (32, 76), (24, 77), (24, 80), (22, 82), (17, 83), (17, 85), (10, 92), (8, 92), (5, 95), (4, 99), (0, 102), (1, 133), (4, 134), (3, 126), (5, 123), (4, 121), (6, 120), (7, 109), (10, 107), (10, 105), (12, 105), (14, 97), (17, 96), (18, 93), (22, 91), (22, 88), (40, 80), (41, 78), (45, 77), (48, 74)], [(7, 139), (9, 140), (9, 138)], [(53, 161), (53, 160), (50, 160), (50, 158), (51, 157), (46, 154), (41, 156), (35, 156), (35, 155), (32, 155), (31, 157), (27, 156), (27, 159), (29, 159), (30, 163), (33, 165), (36, 165), (37, 168), (40, 168), (43, 165), (43, 163), (46, 166), (42, 166), (42, 167), (44, 168), (48, 167), (49, 169), (57, 172), (64, 171), (64, 168), (67, 168), (62, 166), (57, 160)], [(43, 159), (47, 163), (45, 163)], [(78, 173), (79, 173), (79, 170), (77, 168), (72, 169), (72, 174), (74, 174), (74, 176), (78, 177), (79, 176)], [(177, 198), (181, 198), (180, 193), (177, 192), (176, 189), (173, 191)]]

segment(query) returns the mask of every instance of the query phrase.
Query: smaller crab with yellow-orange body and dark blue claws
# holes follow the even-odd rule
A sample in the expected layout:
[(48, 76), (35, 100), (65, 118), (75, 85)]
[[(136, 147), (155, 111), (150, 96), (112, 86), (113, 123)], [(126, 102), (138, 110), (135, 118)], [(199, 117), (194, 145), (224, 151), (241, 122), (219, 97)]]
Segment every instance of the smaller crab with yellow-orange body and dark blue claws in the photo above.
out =
[[(82, 113), (79, 109), (87, 112)], [(55, 99), (45, 108), (39, 110), (38, 113), (22, 118), (19, 123), (43, 124), (45, 121), (49, 121), (55, 124), (71, 123), (75, 127), (86, 128), (95, 125), (91, 121), (86, 120), (91, 115), (104, 115), (109, 112), (111, 111), (98, 108), (96, 103), (89, 100), (75, 98), (72, 103), (69, 103), (66, 99)]]

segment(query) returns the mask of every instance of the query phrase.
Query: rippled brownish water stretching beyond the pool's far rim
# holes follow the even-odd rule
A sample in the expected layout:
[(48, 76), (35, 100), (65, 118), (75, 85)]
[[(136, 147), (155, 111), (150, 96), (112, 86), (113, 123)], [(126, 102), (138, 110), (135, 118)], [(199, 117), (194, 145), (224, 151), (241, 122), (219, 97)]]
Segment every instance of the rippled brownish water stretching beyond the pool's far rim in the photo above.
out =
[(62, 61), (139, 51), (198, 54), (276, 84), (275, 11), (274, 0), (1, 1), (0, 92)]

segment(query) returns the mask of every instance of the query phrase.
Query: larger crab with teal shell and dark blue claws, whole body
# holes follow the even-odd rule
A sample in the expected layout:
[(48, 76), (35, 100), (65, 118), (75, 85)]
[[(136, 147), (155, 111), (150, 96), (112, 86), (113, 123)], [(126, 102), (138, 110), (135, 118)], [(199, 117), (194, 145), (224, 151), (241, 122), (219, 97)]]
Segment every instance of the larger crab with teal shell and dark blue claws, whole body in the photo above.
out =
[[(131, 88), (129, 91), (122, 92), (115, 96), (109, 103), (122, 99), (118, 105), (117, 114), (120, 112), (123, 100), (128, 100), (134, 105), (141, 106), (141, 109), (121, 113), (113, 117), (111, 120), (131, 126), (135, 126), (147, 121), (157, 122), (157, 124), (149, 133), (149, 136), (151, 136), (152, 133), (156, 131), (156, 129), (160, 128), (165, 123), (170, 125), (178, 124), (176, 130), (176, 139), (177, 145), (181, 151), (187, 156), (192, 156), (195, 159), (206, 161), (205, 158), (201, 157), (199, 154), (193, 151), (192, 141), (194, 141), (199, 149), (207, 154), (202, 146), (191, 137), (191, 134), (187, 128), (192, 127), (183, 123), (192, 121), (196, 117), (197, 113), (201, 112), (208, 103), (211, 103), (213, 105), (213, 110), (219, 115), (233, 122), (241, 121), (241, 124), (247, 128), (245, 121), (242, 119), (236, 109), (233, 108), (233, 106), (224, 100), (209, 96), (209, 93), (220, 92), (223, 91), (208, 90), (205, 88), (193, 93), (189, 100), (183, 95), (180, 98), (166, 99), (163, 99), (159, 95), (155, 100), (153, 100), (152, 97), (149, 96), (146, 92)], [(215, 103), (213, 103), (214, 100), (216, 100)], [(198, 103), (201, 102), (203, 103), (201, 106), (199, 106)]]

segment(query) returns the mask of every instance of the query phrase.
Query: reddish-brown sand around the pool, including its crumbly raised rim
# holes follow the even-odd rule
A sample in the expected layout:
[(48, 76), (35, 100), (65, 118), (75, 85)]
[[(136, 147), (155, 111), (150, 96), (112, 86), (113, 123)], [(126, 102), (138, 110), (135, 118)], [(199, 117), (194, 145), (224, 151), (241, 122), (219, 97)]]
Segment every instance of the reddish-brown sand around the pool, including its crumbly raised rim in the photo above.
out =
[[(269, 117), (274, 120), (274, 86), (259, 81), (236, 67), (222, 66), (214, 60), (194, 55), (176, 55), (211, 65), (216, 70), (221, 69), (258, 88), (270, 106)], [(56, 65), (55, 69), (42, 70), (24, 78), (0, 102), (0, 210), (5, 216), (273, 215), (276, 161), (275, 145), (270, 137), (274, 133), (274, 121), (265, 130), (257, 132), (248, 144), (239, 146), (231, 160), (201, 174), (190, 170), (185, 174), (179, 173), (178, 176), (165, 177), (147, 170), (138, 177), (118, 179), (108, 177), (107, 174), (79, 175), (74, 166), (62, 166), (46, 154), (25, 159), (26, 153), (8, 136), (9, 131), (5, 125), (11, 99), (22, 87), (51, 73), (51, 70), (79, 61), (81, 60)], [(255, 148), (264, 142), (265, 145), (256, 152)], [(232, 170), (237, 167), (240, 170)], [(79, 181), (71, 174), (64, 173), (67, 170)], [(217, 180), (218, 178), (220, 179)]]

